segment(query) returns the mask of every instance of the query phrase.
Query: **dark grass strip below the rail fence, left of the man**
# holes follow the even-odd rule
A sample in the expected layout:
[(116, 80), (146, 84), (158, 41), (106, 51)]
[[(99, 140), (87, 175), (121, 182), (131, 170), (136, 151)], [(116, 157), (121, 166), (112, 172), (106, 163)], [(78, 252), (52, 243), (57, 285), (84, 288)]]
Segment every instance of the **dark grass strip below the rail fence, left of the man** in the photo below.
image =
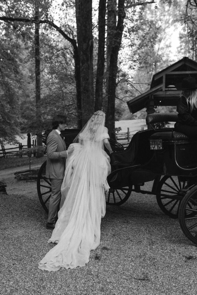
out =
[[(46, 156), (41, 158), (31, 157), (31, 165), (42, 165), (42, 163), (46, 160)], [(0, 170), (4, 170), (6, 168), (14, 168), (29, 165), (29, 157), (23, 156), (22, 158), (18, 157), (8, 157), (8, 158), (0, 158)]]

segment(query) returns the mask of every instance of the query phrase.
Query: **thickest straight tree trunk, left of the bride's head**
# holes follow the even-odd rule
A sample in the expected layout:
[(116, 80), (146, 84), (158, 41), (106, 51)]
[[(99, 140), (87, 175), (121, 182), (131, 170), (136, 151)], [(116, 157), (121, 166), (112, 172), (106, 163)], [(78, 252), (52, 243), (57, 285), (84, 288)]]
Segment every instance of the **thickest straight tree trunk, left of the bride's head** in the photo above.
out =
[(94, 112), (92, 0), (76, 0), (77, 42), (81, 69), (82, 125)]

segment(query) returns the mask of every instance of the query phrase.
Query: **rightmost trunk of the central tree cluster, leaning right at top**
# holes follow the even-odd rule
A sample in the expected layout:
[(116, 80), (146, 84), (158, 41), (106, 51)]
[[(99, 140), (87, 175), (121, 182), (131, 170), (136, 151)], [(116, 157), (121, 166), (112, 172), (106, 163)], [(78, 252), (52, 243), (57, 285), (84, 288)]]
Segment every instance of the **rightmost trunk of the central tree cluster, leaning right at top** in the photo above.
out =
[(106, 126), (109, 130), (109, 136), (112, 139), (115, 137), (115, 98), (116, 98), (116, 74), (118, 53), (122, 40), (122, 32), (124, 29), (124, 0), (118, 1), (118, 22), (116, 26), (116, 33), (114, 35), (114, 42), (111, 47), (110, 63), (109, 63), (109, 81), (108, 81), (108, 105), (106, 113)]

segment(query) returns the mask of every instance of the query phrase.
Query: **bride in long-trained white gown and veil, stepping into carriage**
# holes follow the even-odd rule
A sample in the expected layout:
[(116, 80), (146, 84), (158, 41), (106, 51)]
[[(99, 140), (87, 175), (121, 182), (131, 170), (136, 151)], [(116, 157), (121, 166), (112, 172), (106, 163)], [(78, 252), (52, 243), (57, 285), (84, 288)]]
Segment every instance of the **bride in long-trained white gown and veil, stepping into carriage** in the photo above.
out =
[(90, 250), (100, 244), (105, 191), (109, 190), (106, 178), (111, 172), (104, 145), (112, 153), (104, 124), (104, 112), (95, 112), (73, 141), (74, 152), (66, 162), (61, 187), (62, 207), (48, 240), (57, 245), (39, 262), (42, 270), (85, 266)]

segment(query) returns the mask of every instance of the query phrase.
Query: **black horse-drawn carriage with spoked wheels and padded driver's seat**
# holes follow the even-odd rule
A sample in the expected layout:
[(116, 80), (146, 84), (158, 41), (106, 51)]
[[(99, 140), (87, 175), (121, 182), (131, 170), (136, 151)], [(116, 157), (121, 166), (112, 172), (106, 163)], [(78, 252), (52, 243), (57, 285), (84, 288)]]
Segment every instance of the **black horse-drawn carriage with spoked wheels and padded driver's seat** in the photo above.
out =
[[(155, 195), (160, 209), (172, 218), (179, 218), (183, 233), (197, 244), (197, 140), (190, 140), (174, 128), (160, 128), (162, 122), (176, 121), (177, 114), (149, 114), (146, 123), (150, 129), (135, 133), (127, 148), (109, 140), (114, 153), (110, 155), (106, 204), (119, 206), (132, 192)], [(63, 132), (67, 147), (79, 131)], [(40, 135), (44, 143), (48, 133), (49, 130)], [(48, 212), (51, 185), (45, 171), (46, 161), (38, 172), (37, 192)], [(143, 190), (150, 181), (152, 190)]]

